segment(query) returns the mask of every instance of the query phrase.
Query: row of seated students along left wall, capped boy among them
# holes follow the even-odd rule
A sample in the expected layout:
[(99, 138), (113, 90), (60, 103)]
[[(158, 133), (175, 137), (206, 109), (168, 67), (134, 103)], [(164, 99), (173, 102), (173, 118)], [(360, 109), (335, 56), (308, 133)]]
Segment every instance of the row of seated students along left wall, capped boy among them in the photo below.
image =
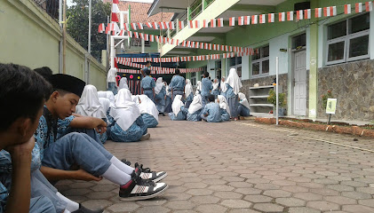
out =
[(97, 92), (74, 76), (52, 75), (48, 67), (0, 64), (0, 212), (103, 211), (59, 193), (53, 185), (62, 179), (106, 178), (119, 186), (123, 201), (163, 194), (166, 172), (131, 167), (101, 142), (149, 138), (145, 98), (132, 97), (128, 89), (116, 96)]

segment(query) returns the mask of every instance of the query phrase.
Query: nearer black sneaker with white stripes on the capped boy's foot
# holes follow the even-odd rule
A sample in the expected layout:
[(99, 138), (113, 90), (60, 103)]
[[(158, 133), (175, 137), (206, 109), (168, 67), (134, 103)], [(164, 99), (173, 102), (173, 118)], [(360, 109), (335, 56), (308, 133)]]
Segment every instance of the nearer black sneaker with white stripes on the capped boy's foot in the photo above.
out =
[(142, 179), (140, 170), (137, 168), (131, 174), (131, 180), (121, 185), (119, 196), (121, 201), (140, 201), (147, 200), (162, 195), (168, 185), (164, 183), (155, 183), (150, 179)]

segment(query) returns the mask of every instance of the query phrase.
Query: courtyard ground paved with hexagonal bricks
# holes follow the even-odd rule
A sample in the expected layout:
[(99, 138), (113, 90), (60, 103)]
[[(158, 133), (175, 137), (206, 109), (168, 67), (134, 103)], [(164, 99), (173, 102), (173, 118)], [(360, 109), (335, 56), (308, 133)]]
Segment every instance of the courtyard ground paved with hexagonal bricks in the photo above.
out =
[(373, 140), (167, 117), (149, 132), (148, 141), (105, 146), (119, 159), (167, 171), (163, 196), (120, 201), (107, 180), (60, 181), (60, 192), (105, 212), (374, 212)]

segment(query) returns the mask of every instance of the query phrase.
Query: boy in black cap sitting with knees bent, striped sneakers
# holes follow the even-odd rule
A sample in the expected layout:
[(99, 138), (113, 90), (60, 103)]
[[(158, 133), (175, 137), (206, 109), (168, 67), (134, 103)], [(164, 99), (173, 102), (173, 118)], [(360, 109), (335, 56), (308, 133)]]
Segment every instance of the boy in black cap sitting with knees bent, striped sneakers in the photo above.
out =
[[(45, 177), (53, 182), (60, 179), (99, 181), (104, 177), (120, 185), (119, 196), (123, 201), (152, 198), (166, 190), (167, 185), (152, 181), (166, 177), (165, 172), (143, 170), (139, 165), (135, 165), (135, 169), (131, 168), (84, 133), (73, 132), (56, 140), (58, 117), (64, 119), (76, 111), (85, 83), (76, 77), (60, 74), (52, 75), (51, 83), (55, 90), (45, 103), (44, 114), (36, 130), (42, 158), (40, 170)], [(123, 120), (130, 117), (125, 115)], [(72, 166), (77, 166), (79, 170), (71, 170)]]

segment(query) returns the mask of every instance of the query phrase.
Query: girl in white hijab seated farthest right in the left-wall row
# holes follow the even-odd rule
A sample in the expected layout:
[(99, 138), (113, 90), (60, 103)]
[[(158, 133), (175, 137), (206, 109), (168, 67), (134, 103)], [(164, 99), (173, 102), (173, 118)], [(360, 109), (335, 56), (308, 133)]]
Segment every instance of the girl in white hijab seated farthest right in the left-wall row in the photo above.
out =
[(147, 124), (147, 128), (155, 128), (158, 125), (158, 110), (155, 103), (146, 95), (137, 95), (136, 98), (143, 122)]

